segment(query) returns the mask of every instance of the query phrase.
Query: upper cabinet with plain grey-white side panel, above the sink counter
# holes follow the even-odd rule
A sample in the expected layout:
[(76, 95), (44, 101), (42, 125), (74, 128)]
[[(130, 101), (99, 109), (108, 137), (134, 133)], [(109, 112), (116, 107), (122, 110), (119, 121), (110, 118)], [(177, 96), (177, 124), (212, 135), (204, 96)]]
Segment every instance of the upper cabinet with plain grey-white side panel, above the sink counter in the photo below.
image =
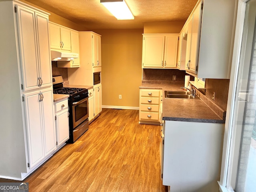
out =
[(234, 0), (198, 1), (184, 25), (188, 27), (188, 74), (198, 78), (230, 77), (235, 14)]

